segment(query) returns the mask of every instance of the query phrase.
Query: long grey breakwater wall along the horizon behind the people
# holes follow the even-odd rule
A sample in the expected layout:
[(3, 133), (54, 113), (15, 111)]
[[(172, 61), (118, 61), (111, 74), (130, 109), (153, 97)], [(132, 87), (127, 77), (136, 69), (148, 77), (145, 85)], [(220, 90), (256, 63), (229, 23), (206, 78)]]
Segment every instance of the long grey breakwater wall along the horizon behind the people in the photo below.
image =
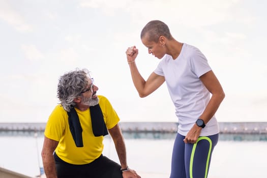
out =
[[(174, 122), (120, 122), (123, 132), (177, 132)], [(0, 123), (0, 131), (44, 131), (46, 123)], [(267, 122), (219, 122), (220, 133), (267, 134)]]

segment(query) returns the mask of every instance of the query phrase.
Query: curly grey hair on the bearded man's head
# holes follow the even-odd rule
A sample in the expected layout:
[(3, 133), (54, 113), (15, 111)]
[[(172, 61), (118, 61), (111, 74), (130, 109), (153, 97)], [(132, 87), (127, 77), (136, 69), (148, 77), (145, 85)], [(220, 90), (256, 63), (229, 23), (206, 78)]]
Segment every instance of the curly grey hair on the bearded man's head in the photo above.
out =
[(76, 69), (60, 77), (57, 84), (57, 98), (66, 111), (70, 111), (71, 105), (75, 105), (73, 100), (86, 89), (88, 78), (91, 77), (87, 69)]

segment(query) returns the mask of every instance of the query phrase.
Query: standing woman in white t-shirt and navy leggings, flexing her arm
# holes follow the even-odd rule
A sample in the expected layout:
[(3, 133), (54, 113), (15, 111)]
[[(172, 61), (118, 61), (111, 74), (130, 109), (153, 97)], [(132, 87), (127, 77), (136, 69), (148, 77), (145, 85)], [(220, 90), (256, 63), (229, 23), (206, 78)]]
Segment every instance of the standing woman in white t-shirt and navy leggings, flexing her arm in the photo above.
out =
[(179, 118), (170, 177), (207, 177), (219, 137), (215, 112), (225, 97), (222, 86), (200, 50), (176, 41), (164, 22), (147, 23), (141, 31), (141, 41), (150, 54), (162, 60), (144, 80), (135, 64), (138, 49), (127, 49), (136, 90), (140, 97), (146, 97), (166, 81)]

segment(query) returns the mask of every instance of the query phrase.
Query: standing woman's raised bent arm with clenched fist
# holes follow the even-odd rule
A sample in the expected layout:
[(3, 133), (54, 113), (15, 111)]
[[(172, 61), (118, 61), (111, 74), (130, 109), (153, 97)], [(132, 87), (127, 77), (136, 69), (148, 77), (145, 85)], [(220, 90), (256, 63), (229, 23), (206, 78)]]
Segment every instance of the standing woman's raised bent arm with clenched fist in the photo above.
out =
[(129, 47), (126, 51), (126, 55), (134, 86), (141, 98), (150, 95), (164, 83), (165, 78), (154, 72), (146, 81), (143, 79), (135, 64), (135, 59), (138, 55), (138, 49), (135, 46)]

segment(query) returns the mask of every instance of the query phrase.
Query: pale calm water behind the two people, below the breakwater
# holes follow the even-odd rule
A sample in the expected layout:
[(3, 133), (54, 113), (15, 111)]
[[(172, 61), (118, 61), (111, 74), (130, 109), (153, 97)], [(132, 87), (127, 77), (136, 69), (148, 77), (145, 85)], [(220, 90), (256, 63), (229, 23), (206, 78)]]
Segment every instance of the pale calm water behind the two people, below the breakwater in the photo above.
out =
[[(142, 178), (165, 178), (175, 133), (123, 133), (127, 160)], [(42, 132), (0, 132), (0, 166), (28, 176), (40, 174)], [(267, 177), (267, 135), (221, 134), (212, 156), (210, 178)], [(112, 139), (104, 139), (103, 154), (118, 161)]]

